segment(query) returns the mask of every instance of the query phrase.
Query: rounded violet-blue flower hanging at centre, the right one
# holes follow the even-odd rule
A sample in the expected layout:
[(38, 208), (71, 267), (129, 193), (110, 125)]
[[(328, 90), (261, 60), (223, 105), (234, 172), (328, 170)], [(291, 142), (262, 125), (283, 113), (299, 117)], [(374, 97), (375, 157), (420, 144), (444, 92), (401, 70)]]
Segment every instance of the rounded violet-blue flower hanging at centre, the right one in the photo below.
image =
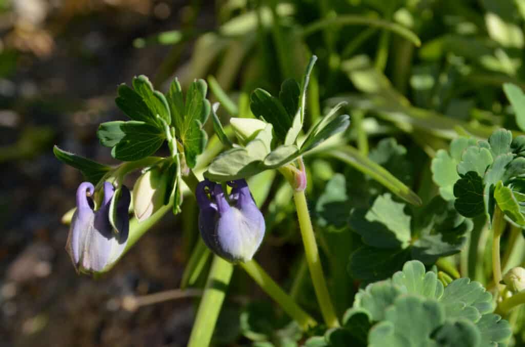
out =
[(229, 262), (247, 262), (257, 252), (266, 225), (246, 180), (228, 183), (232, 187), (228, 203), (222, 186), (204, 180), (195, 196), (201, 212), (198, 225), (204, 243)]

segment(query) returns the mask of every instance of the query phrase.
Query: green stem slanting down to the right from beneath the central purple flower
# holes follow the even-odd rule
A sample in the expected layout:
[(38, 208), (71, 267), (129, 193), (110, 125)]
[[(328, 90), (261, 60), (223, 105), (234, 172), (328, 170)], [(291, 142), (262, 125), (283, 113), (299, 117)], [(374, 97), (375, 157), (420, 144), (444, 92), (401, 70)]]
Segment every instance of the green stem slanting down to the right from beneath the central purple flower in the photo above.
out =
[(307, 330), (317, 325), (317, 322), (310, 317), (308, 313), (304, 312), (297, 303), (268, 276), (259, 264), (251, 260), (246, 263), (240, 263), (239, 265), (256, 281), (266, 294), (274, 299), (290, 317), (299, 323), (302, 330)]

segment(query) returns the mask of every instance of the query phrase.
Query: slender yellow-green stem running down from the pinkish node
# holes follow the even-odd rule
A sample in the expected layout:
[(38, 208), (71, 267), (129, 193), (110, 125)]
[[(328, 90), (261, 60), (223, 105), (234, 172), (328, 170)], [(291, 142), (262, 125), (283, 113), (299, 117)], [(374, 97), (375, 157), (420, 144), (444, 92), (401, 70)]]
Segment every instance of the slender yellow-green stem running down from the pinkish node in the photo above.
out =
[(310, 213), (308, 212), (308, 205), (306, 203), (304, 191), (294, 192), (293, 198), (296, 203), (297, 216), (299, 218), (304, 254), (306, 255), (308, 268), (310, 269), (310, 276), (312, 277), (313, 288), (316, 291), (324, 322), (330, 328), (339, 327), (339, 321), (335, 315), (326, 280), (324, 279), (321, 259), (319, 258), (319, 250), (317, 248), (316, 235), (313, 233), (312, 221), (310, 220)]

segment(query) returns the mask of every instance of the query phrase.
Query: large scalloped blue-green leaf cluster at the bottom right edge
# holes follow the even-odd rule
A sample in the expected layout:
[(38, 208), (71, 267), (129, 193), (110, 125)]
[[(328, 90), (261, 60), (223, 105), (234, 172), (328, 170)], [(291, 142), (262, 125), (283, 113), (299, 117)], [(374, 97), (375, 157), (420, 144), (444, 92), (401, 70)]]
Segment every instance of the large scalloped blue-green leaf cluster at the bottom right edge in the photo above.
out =
[(508, 321), (492, 313), (492, 296), (460, 278), (446, 287), (418, 261), (355, 296), (341, 328), (310, 338), (307, 347), (506, 346)]

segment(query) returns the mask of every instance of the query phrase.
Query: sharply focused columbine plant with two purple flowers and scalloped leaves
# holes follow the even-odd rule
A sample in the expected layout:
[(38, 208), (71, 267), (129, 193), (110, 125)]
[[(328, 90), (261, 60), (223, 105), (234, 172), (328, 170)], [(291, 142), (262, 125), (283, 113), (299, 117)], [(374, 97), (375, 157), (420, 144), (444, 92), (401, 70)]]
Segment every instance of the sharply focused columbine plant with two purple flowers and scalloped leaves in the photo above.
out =
[[(506, 223), (525, 226), (525, 136), (513, 137), (499, 129), (488, 140), (454, 139), (449, 151), (437, 151), (432, 162), (440, 196), (428, 199), (422, 208), (410, 208), (406, 202), (418, 205), (421, 199), (404, 183), (412, 178), (402, 145), (386, 139), (370, 153), (367, 148), (360, 152), (345, 145), (344, 137), (335, 136), (350, 125), (350, 117), (341, 112), (344, 103), (335, 104), (309, 129), (304, 128), (307, 89), (316, 59), (311, 58), (301, 83), (288, 79), (276, 95), (259, 88), (253, 91), (250, 110), (255, 118), (230, 117), (227, 127), (217, 115), (219, 104), (212, 106), (206, 99), (204, 80), (195, 80), (186, 93), (177, 79), (166, 94), (154, 90), (144, 76), (134, 78), (132, 87), (120, 85), (116, 103), (130, 120), (102, 123), (97, 136), (121, 164), (107, 166), (54, 149), (58, 159), (86, 178), (77, 190), (77, 208), (69, 214), (66, 248), (75, 268), (84, 273), (108, 272), (167, 211), (178, 214), (186, 208), (184, 195), (193, 195), (202, 238), (188, 262), (183, 285), (195, 283), (210, 251), (215, 255), (188, 343), (191, 347), (210, 343), (225, 297), (217, 284), (228, 285), (234, 265), (278, 303), (292, 319), (290, 329), (297, 330), (297, 340), (303, 337), (310, 347), (505, 345), (510, 325), (493, 313), (490, 292), (475, 281), (459, 278), (445, 257), (461, 252), (475, 228), (471, 219), (485, 215), (493, 232), (497, 312), (507, 315), (525, 302), (523, 268), (503, 277), (499, 254)], [(525, 102), (525, 95), (512, 88), (510, 93), (513, 104)], [(227, 101), (228, 109), (233, 109), (234, 103)], [(210, 113), (215, 133), (210, 143), (215, 146), (207, 146), (204, 130)], [(327, 144), (330, 138), (332, 145)], [(154, 156), (165, 142), (169, 155)], [(304, 157), (315, 154), (359, 170), (346, 176), (329, 174), (328, 184), (313, 204), (317, 225), (326, 231), (322, 233), (314, 232), (305, 194), (313, 188)], [(318, 160), (315, 170), (322, 170), (325, 159)], [(123, 181), (135, 170), (142, 173), (130, 193)], [(269, 187), (254, 189), (250, 182), (268, 172), (273, 180), (275, 173), (268, 170), (277, 170), (285, 179), (287, 186), (279, 188), (279, 199), (295, 202), (304, 246), (292, 295), (253, 259), (268, 226), (254, 196), (267, 195)], [(355, 180), (347, 181), (348, 177)], [(191, 207), (187, 209), (193, 213)], [(134, 215), (131, 219), (130, 214)], [(360, 246), (352, 252), (346, 245), (358, 238), (350, 230), (361, 237)], [(321, 257), (318, 241), (334, 253), (324, 252)], [(341, 306), (342, 296), (353, 287), (344, 287), (348, 274), (344, 266), (341, 272), (340, 265), (349, 258), (348, 270), (362, 285), (350, 308), (350, 303)], [(344, 293), (338, 291), (336, 296), (336, 289), (329, 290), (327, 268), (335, 288), (346, 288)], [(308, 274), (317, 298), (310, 302), (312, 314), (297, 303), (297, 288)]]

